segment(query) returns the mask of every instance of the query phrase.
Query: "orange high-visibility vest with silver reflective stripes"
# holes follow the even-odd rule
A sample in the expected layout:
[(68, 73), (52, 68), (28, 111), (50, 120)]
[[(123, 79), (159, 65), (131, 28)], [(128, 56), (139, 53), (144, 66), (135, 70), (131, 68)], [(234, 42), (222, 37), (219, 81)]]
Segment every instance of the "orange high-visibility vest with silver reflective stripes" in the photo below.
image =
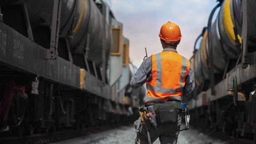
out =
[(146, 102), (165, 102), (181, 97), (189, 61), (174, 51), (163, 51), (152, 56), (152, 79), (147, 82)]

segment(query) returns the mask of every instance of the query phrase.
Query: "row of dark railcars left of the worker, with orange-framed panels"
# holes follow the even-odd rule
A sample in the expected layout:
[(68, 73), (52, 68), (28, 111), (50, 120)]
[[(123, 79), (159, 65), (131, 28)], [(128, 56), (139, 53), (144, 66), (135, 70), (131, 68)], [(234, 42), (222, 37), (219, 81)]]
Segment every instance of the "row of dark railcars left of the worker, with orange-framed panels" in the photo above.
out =
[(133, 116), (129, 39), (92, 0), (0, 2), (0, 135), (102, 125)]

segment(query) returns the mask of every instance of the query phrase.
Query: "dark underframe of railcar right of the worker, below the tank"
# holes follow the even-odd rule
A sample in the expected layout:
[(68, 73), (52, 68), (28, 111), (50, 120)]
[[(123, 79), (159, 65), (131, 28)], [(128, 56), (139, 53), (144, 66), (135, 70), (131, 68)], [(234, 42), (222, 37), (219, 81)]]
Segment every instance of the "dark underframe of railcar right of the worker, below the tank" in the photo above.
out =
[[(256, 90), (256, 52), (250, 57), (248, 67), (243, 68), (239, 63), (214, 86), (214, 95), (208, 89), (187, 102), (193, 112), (191, 116), (195, 116), (192, 121), (203, 123), (204, 128), (221, 129), (235, 137), (253, 134), (256, 142), (256, 96), (251, 93)], [(233, 121), (227, 121), (227, 117)]]

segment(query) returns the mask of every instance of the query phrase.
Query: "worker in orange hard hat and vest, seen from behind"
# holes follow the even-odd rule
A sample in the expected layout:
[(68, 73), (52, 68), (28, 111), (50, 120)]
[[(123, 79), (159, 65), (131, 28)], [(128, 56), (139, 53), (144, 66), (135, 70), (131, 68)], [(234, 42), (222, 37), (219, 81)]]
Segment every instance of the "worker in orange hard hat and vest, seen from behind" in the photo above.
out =
[[(193, 95), (194, 74), (189, 60), (176, 50), (182, 37), (179, 26), (171, 21), (164, 23), (159, 37), (163, 51), (151, 55), (141, 63), (131, 78), (130, 85), (137, 89), (146, 83), (145, 107), (157, 105), (157, 129), (150, 127), (149, 140), (154, 142), (159, 138), (164, 144), (177, 143), (181, 124), (179, 103), (181, 96), (189, 98)], [(150, 143), (145, 126), (141, 127), (135, 143)]]

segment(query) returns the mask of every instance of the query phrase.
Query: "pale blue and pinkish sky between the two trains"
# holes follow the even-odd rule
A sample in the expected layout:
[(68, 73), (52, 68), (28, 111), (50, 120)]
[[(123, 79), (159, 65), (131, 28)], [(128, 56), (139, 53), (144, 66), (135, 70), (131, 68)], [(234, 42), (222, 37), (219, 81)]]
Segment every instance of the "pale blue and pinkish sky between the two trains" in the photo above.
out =
[(145, 56), (163, 50), (158, 33), (167, 21), (181, 29), (179, 54), (190, 59), (194, 43), (217, 2), (215, 0), (107, 0), (116, 20), (123, 23), (123, 36), (130, 40), (130, 60), (139, 67)]

